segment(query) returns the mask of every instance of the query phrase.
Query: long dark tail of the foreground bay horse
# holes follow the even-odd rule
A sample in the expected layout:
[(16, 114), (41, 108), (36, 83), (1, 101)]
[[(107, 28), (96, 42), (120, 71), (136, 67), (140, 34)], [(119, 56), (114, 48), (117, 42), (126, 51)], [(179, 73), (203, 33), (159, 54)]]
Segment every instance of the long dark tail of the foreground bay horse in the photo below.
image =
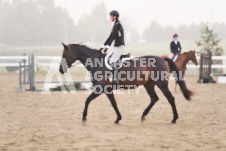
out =
[(179, 70), (178, 70), (177, 66), (169, 58), (164, 58), (164, 60), (168, 62), (169, 68), (170, 68), (170, 72), (172, 73), (172, 71), (173, 71), (174, 74), (176, 74), (175, 76), (176, 76), (177, 83), (179, 84), (179, 86), (180, 86), (180, 88), (181, 88), (181, 90), (183, 92), (184, 97), (187, 100), (190, 100), (193, 93), (190, 90), (187, 89), (187, 86), (186, 86), (184, 80), (182, 79), (182, 77), (181, 77), (181, 79), (179, 78)]

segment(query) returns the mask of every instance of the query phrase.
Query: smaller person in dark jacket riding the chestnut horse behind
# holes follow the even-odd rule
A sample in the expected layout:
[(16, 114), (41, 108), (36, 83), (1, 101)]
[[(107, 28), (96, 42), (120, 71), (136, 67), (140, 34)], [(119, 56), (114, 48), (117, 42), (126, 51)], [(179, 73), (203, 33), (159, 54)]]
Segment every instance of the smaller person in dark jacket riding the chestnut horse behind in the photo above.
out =
[(177, 40), (178, 35), (173, 35), (173, 41), (170, 43), (170, 50), (172, 56), (170, 57), (174, 62), (177, 60), (178, 55), (181, 53), (181, 45), (180, 42)]

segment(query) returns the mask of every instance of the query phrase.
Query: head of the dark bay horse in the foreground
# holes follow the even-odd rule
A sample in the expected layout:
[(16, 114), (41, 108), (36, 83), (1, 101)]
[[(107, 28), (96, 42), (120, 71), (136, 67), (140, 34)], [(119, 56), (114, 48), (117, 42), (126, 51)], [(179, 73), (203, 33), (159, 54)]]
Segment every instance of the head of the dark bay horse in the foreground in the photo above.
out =
[(62, 54), (62, 59), (59, 67), (60, 73), (64, 74), (67, 72), (67, 69), (71, 67), (71, 65), (77, 60), (77, 56), (73, 54), (73, 51), (70, 49), (68, 45), (62, 43), (64, 50)]

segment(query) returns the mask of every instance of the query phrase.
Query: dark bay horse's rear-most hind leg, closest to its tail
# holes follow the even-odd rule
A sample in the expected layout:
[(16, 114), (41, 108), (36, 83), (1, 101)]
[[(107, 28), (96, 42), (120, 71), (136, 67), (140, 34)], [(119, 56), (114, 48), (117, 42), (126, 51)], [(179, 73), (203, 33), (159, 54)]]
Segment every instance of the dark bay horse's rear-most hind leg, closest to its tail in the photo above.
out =
[(157, 86), (161, 89), (161, 91), (163, 92), (165, 97), (168, 99), (168, 101), (172, 107), (173, 115), (174, 115), (172, 123), (176, 123), (176, 120), (178, 119), (178, 114), (177, 114), (177, 109), (176, 109), (176, 105), (175, 105), (175, 101), (174, 101), (175, 99), (168, 88), (167, 81), (161, 81), (161, 83), (158, 83)]

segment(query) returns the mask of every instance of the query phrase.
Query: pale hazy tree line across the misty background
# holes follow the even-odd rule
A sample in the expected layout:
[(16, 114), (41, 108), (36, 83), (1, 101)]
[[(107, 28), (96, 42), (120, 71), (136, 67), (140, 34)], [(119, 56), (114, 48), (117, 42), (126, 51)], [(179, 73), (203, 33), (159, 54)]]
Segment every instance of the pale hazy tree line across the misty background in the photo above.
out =
[[(94, 6), (88, 14), (80, 17), (77, 24), (66, 9), (56, 7), (53, 0), (0, 0), (0, 43), (8, 45), (56, 45), (69, 43), (103, 43), (112, 25), (104, 3)], [(198, 39), (203, 24), (162, 27), (153, 21), (143, 34), (131, 27), (124, 18), (126, 41), (131, 43), (168, 40), (174, 33), (183, 39)], [(226, 24), (216, 23), (213, 29), (226, 39)]]

